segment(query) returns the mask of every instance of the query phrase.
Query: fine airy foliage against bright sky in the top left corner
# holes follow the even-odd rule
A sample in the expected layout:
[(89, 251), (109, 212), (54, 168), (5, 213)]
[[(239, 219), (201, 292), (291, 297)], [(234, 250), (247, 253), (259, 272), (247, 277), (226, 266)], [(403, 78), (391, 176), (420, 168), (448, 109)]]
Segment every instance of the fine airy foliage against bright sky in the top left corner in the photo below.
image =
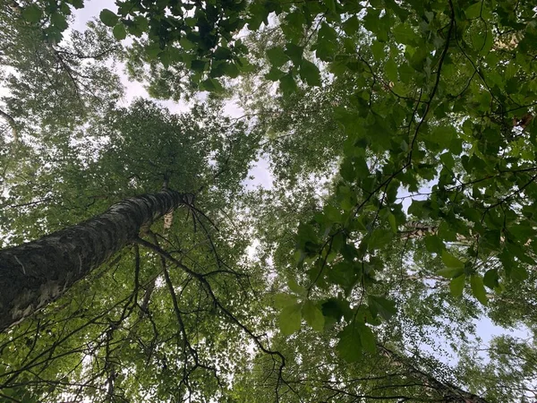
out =
[[(2, 103), (19, 131), (31, 134), (40, 125), (53, 133), (66, 127), (72, 130), (115, 104), (123, 89), (117, 75), (102, 62), (119, 56), (120, 47), (102, 25), (91, 23), (84, 32), (71, 31), (60, 42), (59, 17), (55, 17), (62, 15), (60, 11), (49, 19), (39, 12), (41, 17), (34, 21), (29, 15), (39, 9), (30, 4), (21, 12), (23, 18), (17, 19), (20, 8), (13, 4), (0, 8), (0, 64), (7, 90)], [(61, 27), (66, 28), (62, 18)]]

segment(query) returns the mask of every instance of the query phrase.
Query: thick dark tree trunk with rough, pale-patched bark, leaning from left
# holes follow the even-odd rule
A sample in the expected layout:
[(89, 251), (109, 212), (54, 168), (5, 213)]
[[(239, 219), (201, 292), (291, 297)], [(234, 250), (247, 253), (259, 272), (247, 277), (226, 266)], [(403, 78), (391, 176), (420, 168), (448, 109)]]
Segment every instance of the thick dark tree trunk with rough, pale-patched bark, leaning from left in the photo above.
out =
[(132, 242), (142, 227), (190, 201), (192, 194), (171, 190), (144, 194), (81, 224), (0, 251), (0, 331), (62, 296)]

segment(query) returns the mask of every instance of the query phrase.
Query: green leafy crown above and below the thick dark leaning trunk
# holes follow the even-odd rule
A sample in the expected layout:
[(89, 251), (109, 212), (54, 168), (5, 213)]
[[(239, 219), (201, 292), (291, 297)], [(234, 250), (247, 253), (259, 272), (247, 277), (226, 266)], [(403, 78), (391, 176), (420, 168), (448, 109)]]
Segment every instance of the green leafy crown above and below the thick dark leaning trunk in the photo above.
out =
[[(229, 119), (216, 108), (200, 106), (191, 114), (175, 116), (139, 100), (129, 108), (109, 111), (102, 122), (84, 132), (87, 139), (93, 136), (101, 140), (103, 132), (107, 133), (107, 147), (98, 155), (84, 155), (84, 147), (79, 146), (52, 155), (39, 150), (40, 161), (20, 161), (22, 166), (37, 167), (31, 174), (39, 181), (27, 182), (21, 191), (12, 187), (13, 195), (5, 198), (6, 202), (19, 203), (6, 209), (10, 214), (5, 216), (4, 231), (16, 234), (11, 243), (21, 242), (17, 236), (38, 236), (36, 222), (42, 222), (47, 230), (64, 227), (91, 217), (110, 202), (151, 191), (165, 181), (198, 193), (201, 201), (197, 205), (213, 214), (208, 219), (199, 210), (175, 211), (172, 227), (164, 229), (160, 224), (160, 228), (153, 228), (166, 235), (166, 245), (173, 245), (171, 253), (181, 253), (189, 270), (198, 273), (196, 281), (192, 282), (188, 272), (161, 266), (153, 253), (132, 246), (78, 283), (72, 295), (9, 331), (0, 347), (4, 398), (40, 401), (81, 394), (101, 399), (104, 393), (138, 401), (190, 393), (199, 401), (209, 401), (219, 393), (218, 388), (225, 387), (224, 380), (230, 375), (228, 370), (221, 371), (221, 366), (231, 370), (236, 365), (231, 352), (226, 351), (235, 351), (243, 336), (226, 320), (214, 320), (214, 304), (223, 301), (222, 310), (243, 304), (251, 274), (240, 261), (248, 245), (247, 233), (239, 229), (243, 226), (234, 223), (237, 228), (226, 231), (233, 212), (221, 218), (217, 215), (233, 197), (234, 182), (243, 179), (250, 160), (245, 156), (232, 159), (226, 148), (239, 135), (244, 148), (251, 148), (251, 144), (242, 135), (243, 126), (229, 126)], [(236, 150), (239, 156), (244, 152), (241, 146)], [(219, 165), (223, 160), (229, 161), (226, 171)], [(210, 181), (210, 189), (202, 189), (205, 181)], [(209, 190), (211, 200), (204, 203), (202, 195)], [(192, 230), (192, 225), (199, 230)], [(217, 228), (227, 237), (220, 236)], [(182, 288), (174, 298), (176, 311), (167, 309), (171, 302), (167, 287), (173, 285)], [(207, 287), (212, 295), (204, 294)], [(235, 321), (249, 321), (247, 309), (236, 316), (225, 313)], [(181, 321), (181, 332), (177, 320)], [(13, 339), (28, 343), (18, 346)], [(184, 343), (189, 346), (186, 350)], [(146, 359), (140, 360), (144, 355)], [(180, 384), (171, 381), (177, 360), (190, 363)], [(132, 373), (123, 373), (122, 367), (132, 367)], [(24, 385), (35, 387), (25, 391)]]

